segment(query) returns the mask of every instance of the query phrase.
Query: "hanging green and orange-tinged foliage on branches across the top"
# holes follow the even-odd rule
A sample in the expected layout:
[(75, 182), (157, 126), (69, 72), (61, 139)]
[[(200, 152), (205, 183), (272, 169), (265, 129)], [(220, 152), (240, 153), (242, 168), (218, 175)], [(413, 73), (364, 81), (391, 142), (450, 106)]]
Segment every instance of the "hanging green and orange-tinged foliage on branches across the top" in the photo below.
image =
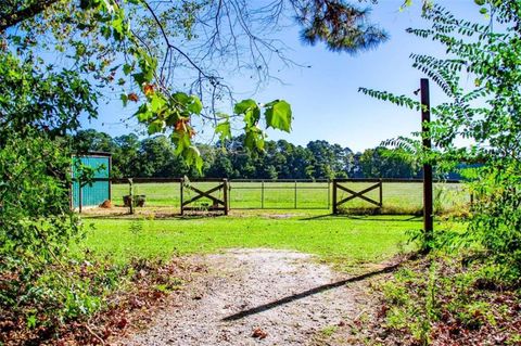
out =
[[(199, 1), (152, 7), (145, 0), (10, 0), (0, 7), (2, 46), (5, 52), (15, 53), (24, 61), (22, 66), (28, 64), (27, 68), (42, 72), (34, 76), (35, 80), (49, 73), (54, 76), (50, 82), (55, 80), (54, 82), (71, 86), (72, 90), (65, 88), (61, 97), (71, 95), (71, 101), (76, 102), (78, 110), (87, 112), (90, 117), (97, 116), (96, 103), (101, 90), (122, 90), (120, 100), (124, 105), (138, 103), (135, 117), (147, 126), (148, 132), (169, 133), (176, 154), (183, 157), (189, 165), (201, 169), (203, 162), (200, 150), (192, 141), (196, 136), (194, 118), (201, 118), (198, 123), (208, 119), (208, 108), (205, 110), (201, 101), (202, 90), (205, 88), (203, 85), (208, 84), (215, 93), (217, 88), (223, 88), (223, 82), (214, 72), (209, 74), (204, 71), (200, 59), (195, 61), (175, 46), (174, 39), (182, 37), (187, 43), (196, 40), (201, 35), (201, 30), (196, 29), (198, 25), (201, 25), (198, 15), (215, 16), (215, 21), (209, 22), (216, 25), (217, 33), (207, 39), (213, 43), (206, 55), (218, 56), (218, 44), (221, 44), (218, 42), (221, 33), (225, 33), (224, 29), (219, 30), (221, 14), (230, 15), (230, 11), (225, 11), (223, 7), (238, 5), (233, 1), (229, 2), (219, 2), (214, 8), (213, 3)], [(297, 22), (305, 27), (306, 37), (313, 41), (323, 40), (334, 50), (354, 53), (376, 47), (386, 38), (383, 30), (369, 24), (368, 10), (359, 10), (347, 2), (290, 0), (290, 3), (297, 14)], [(263, 11), (255, 14), (260, 13)], [(238, 15), (243, 14), (241, 12)], [(255, 18), (256, 15), (252, 14), (249, 21), (254, 22)], [(277, 17), (269, 20), (277, 22)], [(241, 27), (246, 30), (246, 39), (254, 35), (250, 25), (253, 23), (244, 23)], [(233, 39), (227, 39), (228, 41), (237, 41), (233, 28), (229, 35), (232, 35)], [(256, 37), (251, 39), (259, 40)], [(160, 40), (161, 43), (156, 44)], [(254, 46), (258, 47), (257, 43)], [(263, 46), (282, 57), (281, 52), (271, 47), (271, 43)], [(229, 49), (223, 51), (228, 52)], [(64, 65), (74, 67), (68, 71), (49, 63), (45, 57), (47, 53), (61, 54), (66, 61)], [(259, 55), (255, 61), (265, 61), (263, 54), (262, 51), (255, 52), (254, 56)], [(186, 88), (170, 82), (169, 75), (183, 66), (182, 63), (179, 67), (176, 67), (177, 63), (170, 66), (174, 56), (185, 60), (202, 78), (196, 84), (199, 95), (192, 94), (193, 88), (189, 88), (187, 92), (183, 90)], [(255, 63), (256, 69), (262, 68), (257, 65)], [(45, 90), (38, 91), (46, 97)], [(219, 118), (215, 112), (215, 101), (212, 100), (214, 115), (209, 116), (214, 119)], [(243, 102), (240, 103), (244, 104)], [(275, 100), (262, 106), (251, 105), (250, 110), (240, 108), (241, 106), (236, 108), (231, 117), (220, 116), (221, 119), (226, 118), (224, 121), (213, 121), (214, 130), (221, 139), (231, 136), (230, 121), (238, 117), (244, 121), (244, 145), (249, 149), (263, 149), (265, 133), (258, 127), (259, 121), (274, 129), (291, 130), (291, 106), (284, 101)], [(260, 108), (264, 108), (263, 115), (259, 113)], [(237, 112), (238, 110), (240, 112)], [(58, 123), (58, 119), (71, 120), (71, 124), (60, 128), (63, 133), (67, 128), (77, 128), (76, 113), (73, 113), (69, 119), (60, 114), (51, 114), (45, 118), (54, 123)], [(22, 124), (25, 120), (25, 117), (20, 118)]]

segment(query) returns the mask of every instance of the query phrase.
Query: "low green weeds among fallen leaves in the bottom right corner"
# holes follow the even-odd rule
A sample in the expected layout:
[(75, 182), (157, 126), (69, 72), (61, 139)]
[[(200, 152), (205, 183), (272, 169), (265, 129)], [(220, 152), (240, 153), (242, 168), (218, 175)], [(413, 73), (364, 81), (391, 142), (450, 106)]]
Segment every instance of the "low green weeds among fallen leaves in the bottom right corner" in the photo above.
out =
[(378, 283), (378, 312), (363, 329), (385, 345), (517, 345), (519, 294), (488, 290), (485, 277), (459, 257), (412, 261)]

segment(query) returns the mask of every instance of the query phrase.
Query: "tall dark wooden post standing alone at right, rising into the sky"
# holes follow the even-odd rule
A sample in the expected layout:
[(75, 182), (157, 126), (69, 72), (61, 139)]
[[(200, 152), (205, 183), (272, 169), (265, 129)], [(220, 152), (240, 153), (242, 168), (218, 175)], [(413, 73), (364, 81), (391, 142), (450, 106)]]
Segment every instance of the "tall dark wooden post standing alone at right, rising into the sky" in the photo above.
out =
[[(429, 79), (421, 79), (421, 136), (424, 151), (432, 148), (429, 123), (431, 121), (431, 102), (429, 98)], [(434, 230), (432, 205), (432, 166), (423, 164), (423, 231), (425, 241), (432, 239)], [(425, 248), (428, 249), (428, 248)]]

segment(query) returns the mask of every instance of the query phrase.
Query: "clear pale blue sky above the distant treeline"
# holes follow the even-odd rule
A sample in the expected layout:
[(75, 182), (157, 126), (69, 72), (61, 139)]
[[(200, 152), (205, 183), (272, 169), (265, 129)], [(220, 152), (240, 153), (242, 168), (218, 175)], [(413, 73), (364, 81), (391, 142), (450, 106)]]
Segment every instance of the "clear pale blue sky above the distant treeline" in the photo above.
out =
[[(253, 97), (259, 102), (284, 99), (292, 105), (294, 120), (291, 133), (268, 130), (268, 139), (285, 139), (305, 145), (310, 140), (327, 140), (348, 146), (353, 151), (373, 148), (381, 141), (407, 136), (420, 128), (416, 112), (373, 100), (358, 92), (359, 87), (408, 94), (419, 88), (421, 73), (411, 67), (409, 54), (429, 53), (443, 56), (443, 49), (432, 41), (405, 33), (408, 27), (429, 25), (421, 18), (420, 0), (399, 11), (403, 0), (380, 0), (373, 7), (371, 18), (385, 28), (391, 39), (373, 51), (350, 56), (333, 53), (317, 44), (304, 46), (298, 39), (298, 28), (289, 28), (280, 35), (292, 51), (289, 56), (310, 68), (287, 68), (277, 74), (284, 84), (270, 82), (256, 94), (249, 90), (244, 78), (228, 80), (240, 92), (239, 98)], [(473, 0), (439, 0), (458, 16), (485, 21)], [(471, 82), (471, 81), (469, 81)], [(442, 102), (443, 94), (431, 82), (431, 102)], [(132, 121), (123, 124), (122, 117), (131, 114), (118, 101), (100, 107), (100, 118), (85, 121), (85, 127), (119, 136), (135, 131)], [(230, 110), (223, 110), (230, 112)], [(204, 137), (201, 138), (204, 140)]]

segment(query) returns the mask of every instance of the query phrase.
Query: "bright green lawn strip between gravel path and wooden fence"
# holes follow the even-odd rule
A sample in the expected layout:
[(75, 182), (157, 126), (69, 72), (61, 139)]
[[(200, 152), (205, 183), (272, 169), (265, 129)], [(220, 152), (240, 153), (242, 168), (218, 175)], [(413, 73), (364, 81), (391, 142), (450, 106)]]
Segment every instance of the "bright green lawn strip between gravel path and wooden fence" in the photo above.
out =
[(344, 270), (378, 262), (402, 249), (405, 232), (420, 229), (410, 216), (334, 217), (317, 213), (266, 214), (213, 218), (85, 219), (96, 229), (80, 245), (98, 256), (125, 262), (132, 257), (215, 253), (226, 248), (270, 247), (318, 255)]

